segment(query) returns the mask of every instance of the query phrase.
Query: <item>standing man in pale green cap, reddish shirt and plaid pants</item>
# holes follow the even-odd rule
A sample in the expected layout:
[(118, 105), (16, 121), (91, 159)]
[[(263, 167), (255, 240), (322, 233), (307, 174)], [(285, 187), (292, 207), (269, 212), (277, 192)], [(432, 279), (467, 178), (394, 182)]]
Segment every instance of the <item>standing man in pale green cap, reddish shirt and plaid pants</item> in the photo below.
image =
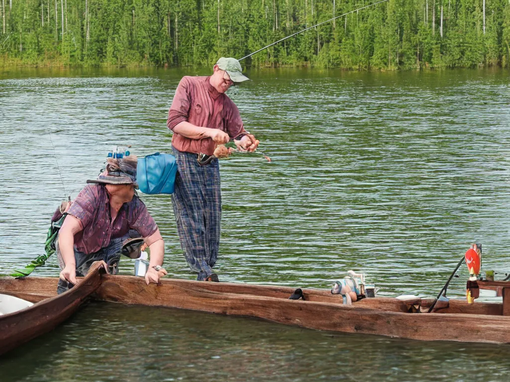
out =
[(221, 220), (217, 157), (230, 153), (222, 145), (233, 139), (238, 150), (254, 151), (259, 144), (244, 129), (237, 106), (225, 95), (232, 85), (247, 79), (239, 61), (222, 57), (211, 76), (181, 79), (168, 112), (166, 125), (173, 131), (177, 162), (173, 212), (184, 256), (197, 280), (218, 281), (212, 270), (218, 258)]

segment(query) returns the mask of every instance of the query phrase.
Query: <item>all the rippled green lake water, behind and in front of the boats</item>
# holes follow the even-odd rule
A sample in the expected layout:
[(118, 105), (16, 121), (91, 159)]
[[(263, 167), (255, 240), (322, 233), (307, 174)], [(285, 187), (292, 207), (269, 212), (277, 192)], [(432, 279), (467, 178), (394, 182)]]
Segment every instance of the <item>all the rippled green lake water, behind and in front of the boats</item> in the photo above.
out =
[[(170, 152), (168, 108), (195, 74), (207, 71), (0, 72), (0, 274), (44, 252), (49, 217), (112, 146)], [(221, 161), (220, 280), (327, 288), (354, 269), (380, 295), (433, 296), (472, 242), (483, 269), (510, 271), (509, 71), (248, 76), (228, 95), (273, 161)], [(170, 197), (141, 197), (169, 276), (194, 278)], [(58, 272), (50, 258), (34, 276)], [(462, 298), (458, 275), (449, 295)], [(93, 303), (0, 361), (0, 380), (500, 381), (509, 350)]]

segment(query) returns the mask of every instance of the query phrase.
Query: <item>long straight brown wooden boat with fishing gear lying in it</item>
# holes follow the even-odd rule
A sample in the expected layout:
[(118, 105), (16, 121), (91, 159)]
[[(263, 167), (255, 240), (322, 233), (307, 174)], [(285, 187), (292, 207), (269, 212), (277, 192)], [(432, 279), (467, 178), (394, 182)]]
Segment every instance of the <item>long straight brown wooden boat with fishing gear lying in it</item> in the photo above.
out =
[[(106, 302), (259, 317), (325, 331), (425, 341), (510, 343), (510, 316), (503, 316), (503, 304), (470, 305), (451, 299), (448, 307), (432, 313), (411, 313), (416, 312), (413, 307), (430, 306), (431, 299), (364, 298), (344, 306), (340, 295), (321, 289), (303, 289), (303, 301), (288, 299), (295, 289), (281, 286), (176, 279), (147, 286), (140, 277), (108, 275), (101, 280), (94, 298)], [(0, 282), (0, 293), (43, 299), (55, 294), (56, 282), (56, 278), (11, 279)], [(68, 299), (66, 303), (72, 302)], [(7, 337), (9, 334), (4, 335)]]

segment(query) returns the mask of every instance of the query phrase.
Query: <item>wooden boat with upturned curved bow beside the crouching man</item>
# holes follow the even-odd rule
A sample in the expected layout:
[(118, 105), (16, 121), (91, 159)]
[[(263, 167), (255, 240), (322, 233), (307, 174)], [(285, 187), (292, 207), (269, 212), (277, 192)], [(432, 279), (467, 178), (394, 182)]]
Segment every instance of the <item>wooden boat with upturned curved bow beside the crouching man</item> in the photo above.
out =
[(35, 303), (17, 312), (0, 315), (0, 354), (40, 336), (78, 310), (85, 299), (101, 285), (100, 264), (75, 287), (57, 295), (58, 278), (0, 278), (0, 293)]

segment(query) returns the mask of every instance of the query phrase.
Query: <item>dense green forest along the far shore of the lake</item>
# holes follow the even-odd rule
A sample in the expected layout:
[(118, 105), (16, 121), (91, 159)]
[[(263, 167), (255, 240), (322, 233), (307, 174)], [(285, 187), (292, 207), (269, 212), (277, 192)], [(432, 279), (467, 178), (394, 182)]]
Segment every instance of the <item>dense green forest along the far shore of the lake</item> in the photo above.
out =
[[(0, 66), (192, 66), (240, 58), (368, 0), (0, 0)], [(510, 67), (510, 0), (389, 0), (251, 67)]]

